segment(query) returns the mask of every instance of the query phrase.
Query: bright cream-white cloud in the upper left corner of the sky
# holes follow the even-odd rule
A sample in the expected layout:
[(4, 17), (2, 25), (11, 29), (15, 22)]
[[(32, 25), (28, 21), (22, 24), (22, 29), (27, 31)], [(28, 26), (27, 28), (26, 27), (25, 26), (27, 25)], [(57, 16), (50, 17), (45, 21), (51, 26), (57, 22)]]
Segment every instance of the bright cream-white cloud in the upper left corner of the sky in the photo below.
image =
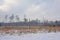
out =
[[(23, 0), (22, 0), (23, 1)], [(3, 4), (0, 5), (0, 11), (6, 12), (9, 9), (11, 9), (11, 7), (16, 7), (18, 6), (19, 2), (20, 4), (22, 3), (21, 0), (4, 0)]]

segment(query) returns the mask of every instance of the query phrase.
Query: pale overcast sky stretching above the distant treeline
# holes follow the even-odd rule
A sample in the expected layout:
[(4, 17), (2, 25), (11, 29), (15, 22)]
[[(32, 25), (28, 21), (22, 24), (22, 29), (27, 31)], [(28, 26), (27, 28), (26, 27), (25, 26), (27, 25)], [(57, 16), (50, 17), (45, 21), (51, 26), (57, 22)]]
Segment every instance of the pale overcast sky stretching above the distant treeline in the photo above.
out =
[(0, 0), (0, 19), (5, 15), (24, 14), (29, 19), (60, 20), (60, 0)]

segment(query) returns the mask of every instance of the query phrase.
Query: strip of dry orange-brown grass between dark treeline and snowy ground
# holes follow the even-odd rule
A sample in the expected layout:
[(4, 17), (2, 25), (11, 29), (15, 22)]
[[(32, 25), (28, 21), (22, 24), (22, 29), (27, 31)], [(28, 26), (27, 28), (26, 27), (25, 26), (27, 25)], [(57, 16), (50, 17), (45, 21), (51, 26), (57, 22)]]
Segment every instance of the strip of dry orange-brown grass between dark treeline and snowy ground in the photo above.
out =
[(3, 26), (3, 27), (0, 27), (0, 30), (2, 31), (8, 31), (8, 30), (32, 30), (32, 31), (36, 31), (36, 30), (50, 30), (50, 31), (60, 31), (60, 27), (59, 26)]

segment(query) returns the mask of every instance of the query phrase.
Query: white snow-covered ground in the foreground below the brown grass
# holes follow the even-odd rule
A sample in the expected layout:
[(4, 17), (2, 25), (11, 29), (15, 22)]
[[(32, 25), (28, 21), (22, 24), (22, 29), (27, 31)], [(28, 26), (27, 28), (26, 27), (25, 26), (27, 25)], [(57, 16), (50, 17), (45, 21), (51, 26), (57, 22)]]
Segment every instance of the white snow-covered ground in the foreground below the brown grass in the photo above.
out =
[(22, 35), (0, 34), (0, 40), (60, 40), (60, 32), (28, 33)]

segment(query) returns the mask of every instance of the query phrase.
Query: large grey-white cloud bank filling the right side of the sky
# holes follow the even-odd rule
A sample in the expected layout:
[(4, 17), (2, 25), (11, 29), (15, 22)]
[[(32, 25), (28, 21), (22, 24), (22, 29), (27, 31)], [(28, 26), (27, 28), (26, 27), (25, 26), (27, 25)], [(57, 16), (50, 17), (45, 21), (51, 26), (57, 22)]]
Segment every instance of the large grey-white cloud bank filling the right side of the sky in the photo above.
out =
[(36, 19), (45, 16), (45, 19), (48, 20), (58, 20), (60, 14), (60, 1), (59, 0), (47, 0), (42, 4), (33, 4), (27, 8), (25, 14), (28, 18)]

